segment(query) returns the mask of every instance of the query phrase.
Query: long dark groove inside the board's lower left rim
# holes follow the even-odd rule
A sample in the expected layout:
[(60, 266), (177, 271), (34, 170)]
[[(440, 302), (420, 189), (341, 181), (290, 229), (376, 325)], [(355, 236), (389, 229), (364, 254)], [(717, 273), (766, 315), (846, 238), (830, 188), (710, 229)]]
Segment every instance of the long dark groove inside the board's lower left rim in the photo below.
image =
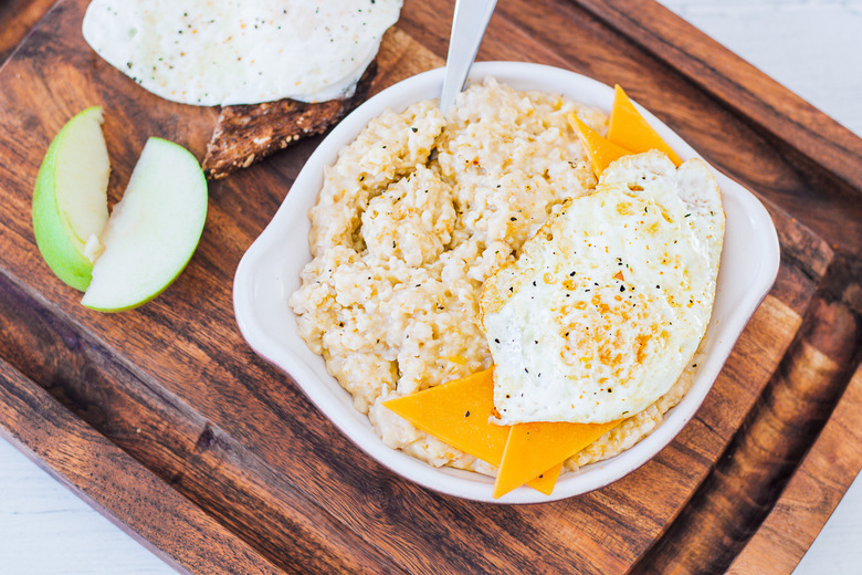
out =
[[(158, 383), (0, 279), (0, 356), (273, 563), (402, 573)], [(51, 363), (40, 359), (49, 353)], [(39, 439), (46, 441), (48, 437)], [(301, 569), (302, 571), (302, 569)], [(299, 572), (301, 572), (299, 571)]]

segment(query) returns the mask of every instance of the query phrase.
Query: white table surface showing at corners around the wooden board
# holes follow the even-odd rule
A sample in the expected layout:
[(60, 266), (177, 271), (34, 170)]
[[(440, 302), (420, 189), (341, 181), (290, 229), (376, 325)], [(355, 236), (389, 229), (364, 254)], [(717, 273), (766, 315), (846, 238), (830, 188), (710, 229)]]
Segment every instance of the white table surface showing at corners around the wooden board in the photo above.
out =
[[(862, 135), (862, 0), (659, 1)], [(793, 573), (862, 573), (861, 543), (856, 478)], [(0, 439), (0, 573), (176, 572)]]

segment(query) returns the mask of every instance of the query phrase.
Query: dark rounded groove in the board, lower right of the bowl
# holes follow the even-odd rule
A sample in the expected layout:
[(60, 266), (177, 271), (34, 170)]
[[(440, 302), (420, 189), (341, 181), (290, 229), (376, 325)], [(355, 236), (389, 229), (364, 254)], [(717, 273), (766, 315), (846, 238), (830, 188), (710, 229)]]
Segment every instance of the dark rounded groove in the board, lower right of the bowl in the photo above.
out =
[[(844, 307), (813, 302), (715, 470), (633, 573), (672, 573), (698, 562), (715, 573), (729, 567), (828, 421), (849, 383), (844, 366), (856, 352), (858, 337), (858, 321)], [(816, 347), (813, 342), (823, 338), (833, 355)]]

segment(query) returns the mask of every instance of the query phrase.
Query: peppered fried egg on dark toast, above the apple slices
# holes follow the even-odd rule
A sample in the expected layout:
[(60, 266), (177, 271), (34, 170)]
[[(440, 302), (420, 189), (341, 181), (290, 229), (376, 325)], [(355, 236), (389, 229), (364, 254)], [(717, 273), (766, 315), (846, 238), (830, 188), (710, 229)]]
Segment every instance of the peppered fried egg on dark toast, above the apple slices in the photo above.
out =
[(166, 100), (202, 106), (353, 94), (401, 0), (93, 0), (84, 39)]

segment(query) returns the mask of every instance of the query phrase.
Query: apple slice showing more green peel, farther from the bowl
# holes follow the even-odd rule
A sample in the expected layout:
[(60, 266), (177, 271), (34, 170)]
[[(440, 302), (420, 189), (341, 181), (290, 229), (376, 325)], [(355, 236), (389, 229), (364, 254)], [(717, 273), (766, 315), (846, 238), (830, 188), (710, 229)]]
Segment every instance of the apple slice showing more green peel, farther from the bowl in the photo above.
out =
[(33, 190), (33, 233), (51, 270), (84, 291), (108, 219), (111, 172), (102, 135), (102, 108), (81, 112), (48, 148)]

